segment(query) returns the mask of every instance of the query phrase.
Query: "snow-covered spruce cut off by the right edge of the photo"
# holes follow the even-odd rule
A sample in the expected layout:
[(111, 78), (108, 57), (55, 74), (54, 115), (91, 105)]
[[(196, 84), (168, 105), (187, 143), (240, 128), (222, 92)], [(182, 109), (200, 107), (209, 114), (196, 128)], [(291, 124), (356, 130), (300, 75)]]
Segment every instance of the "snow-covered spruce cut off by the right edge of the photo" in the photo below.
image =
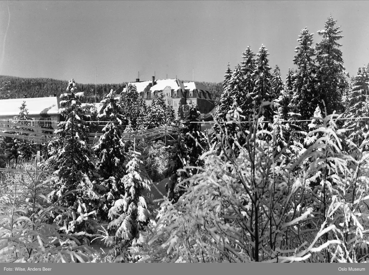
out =
[(369, 131), (369, 103), (367, 90), (369, 88), (366, 68), (359, 68), (358, 74), (351, 83), (351, 92), (347, 97), (347, 110), (344, 128), (348, 129), (348, 138), (356, 146), (360, 146)]

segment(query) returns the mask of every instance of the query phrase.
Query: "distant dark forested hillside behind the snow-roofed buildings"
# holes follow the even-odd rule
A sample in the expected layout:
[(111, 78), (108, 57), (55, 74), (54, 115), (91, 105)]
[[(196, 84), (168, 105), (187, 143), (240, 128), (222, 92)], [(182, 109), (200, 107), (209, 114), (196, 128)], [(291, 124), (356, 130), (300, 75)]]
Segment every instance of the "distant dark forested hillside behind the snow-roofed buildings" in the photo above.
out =
[[(220, 95), (223, 92), (222, 82), (199, 82), (209, 88), (209, 91), (213, 93), (214, 99), (220, 98)], [(96, 101), (101, 101), (103, 96), (110, 92), (111, 89), (118, 89), (127, 83), (128, 82), (97, 84)], [(60, 94), (65, 93), (67, 86), (68, 81), (66, 80), (52, 78), (22, 78), (17, 76), (0, 75), (0, 99), (48, 97), (50, 94), (60, 96)], [(86, 103), (92, 103), (95, 101), (94, 83), (77, 83), (77, 89), (79, 92), (85, 93), (83, 101)]]

